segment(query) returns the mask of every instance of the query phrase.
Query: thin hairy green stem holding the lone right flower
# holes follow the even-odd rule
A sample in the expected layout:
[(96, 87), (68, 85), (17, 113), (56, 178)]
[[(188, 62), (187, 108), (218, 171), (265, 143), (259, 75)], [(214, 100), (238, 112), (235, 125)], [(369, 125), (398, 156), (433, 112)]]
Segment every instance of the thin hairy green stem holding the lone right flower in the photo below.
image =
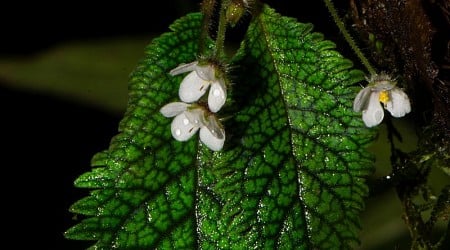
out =
[(327, 6), (328, 11), (331, 13), (331, 16), (333, 17), (334, 22), (338, 26), (339, 30), (342, 32), (342, 35), (344, 36), (345, 40), (347, 41), (347, 43), (352, 48), (353, 52), (355, 52), (356, 56), (359, 58), (359, 60), (361, 60), (362, 64), (366, 67), (367, 71), (369, 71), (369, 73), (371, 75), (376, 74), (376, 71), (372, 67), (372, 65), (370, 64), (369, 60), (367, 60), (367, 58), (364, 56), (362, 51), (356, 45), (355, 41), (351, 37), (351, 35), (348, 32), (348, 30), (345, 28), (345, 24), (341, 20), (341, 18), (339, 17), (339, 15), (337, 13), (337, 10), (334, 7), (334, 4), (333, 4), (332, 0), (323, 0), (323, 1), (325, 2), (325, 5)]

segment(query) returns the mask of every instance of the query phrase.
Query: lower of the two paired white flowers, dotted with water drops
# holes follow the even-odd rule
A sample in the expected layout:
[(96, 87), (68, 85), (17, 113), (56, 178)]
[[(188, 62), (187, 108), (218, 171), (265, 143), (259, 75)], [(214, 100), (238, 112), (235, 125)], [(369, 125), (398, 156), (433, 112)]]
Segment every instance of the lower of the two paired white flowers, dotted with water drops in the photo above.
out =
[(211, 150), (219, 151), (225, 142), (225, 131), (217, 118), (203, 107), (172, 102), (160, 110), (165, 117), (174, 117), (170, 130), (177, 141), (189, 140), (200, 129), (200, 140)]

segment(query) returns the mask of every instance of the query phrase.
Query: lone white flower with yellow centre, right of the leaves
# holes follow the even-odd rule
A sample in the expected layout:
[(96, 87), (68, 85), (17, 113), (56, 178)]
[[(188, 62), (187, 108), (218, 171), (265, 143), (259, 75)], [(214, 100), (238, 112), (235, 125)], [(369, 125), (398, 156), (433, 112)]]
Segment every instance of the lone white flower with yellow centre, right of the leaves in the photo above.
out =
[(363, 88), (353, 102), (353, 110), (362, 111), (362, 119), (367, 127), (381, 123), (384, 108), (394, 117), (403, 117), (411, 112), (408, 96), (386, 74), (374, 75), (368, 79), (369, 85)]

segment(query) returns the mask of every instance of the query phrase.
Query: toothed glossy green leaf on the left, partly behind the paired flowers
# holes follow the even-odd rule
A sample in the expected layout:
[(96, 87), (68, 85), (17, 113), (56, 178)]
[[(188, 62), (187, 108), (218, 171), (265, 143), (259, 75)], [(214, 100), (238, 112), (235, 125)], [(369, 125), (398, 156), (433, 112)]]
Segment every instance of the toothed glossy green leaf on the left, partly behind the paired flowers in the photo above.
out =
[(120, 134), (94, 156), (96, 168), (75, 182), (96, 190), (71, 211), (93, 217), (70, 228), (67, 238), (95, 240), (96, 249), (197, 247), (199, 195), (211, 216), (218, 212), (218, 201), (201, 191), (209, 179), (196, 165), (197, 140), (175, 141), (171, 119), (159, 109), (177, 100), (181, 77), (169, 71), (196, 59), (201, 20), (200, 14), (190, 14), (147, 47), (130, 77)]

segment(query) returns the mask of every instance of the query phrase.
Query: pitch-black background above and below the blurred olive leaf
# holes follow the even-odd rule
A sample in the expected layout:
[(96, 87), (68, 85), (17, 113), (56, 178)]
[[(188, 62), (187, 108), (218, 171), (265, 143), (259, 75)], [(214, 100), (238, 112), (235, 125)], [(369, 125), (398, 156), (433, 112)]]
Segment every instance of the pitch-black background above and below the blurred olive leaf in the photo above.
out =
[[(197, 11), (199, 2), (2, 3), (0, 57), (28, 57), (72, 40), (162, 33), (177, 18)], [(298, 4), (294, 1), (266, 2), (284, 15), (314, 23), (315, 30), (327, 34), (327, 39), (339, 41), (322, 1), (308, 1), (310, 6), (302, 3), (301, 7), (294, 7)], [(240, 34), (238, 28), (230, 35), (238, 39)], [(83, 249), (87, 242), (63, 237), (63, 232), (76, 224), (69, 206), (88, 194), (74, 188), (73, 181), (89, 171), (96, 152), (108, 147), (123, 114), (11, 89), (2, 81), (4, 244), (13, 248)]]

